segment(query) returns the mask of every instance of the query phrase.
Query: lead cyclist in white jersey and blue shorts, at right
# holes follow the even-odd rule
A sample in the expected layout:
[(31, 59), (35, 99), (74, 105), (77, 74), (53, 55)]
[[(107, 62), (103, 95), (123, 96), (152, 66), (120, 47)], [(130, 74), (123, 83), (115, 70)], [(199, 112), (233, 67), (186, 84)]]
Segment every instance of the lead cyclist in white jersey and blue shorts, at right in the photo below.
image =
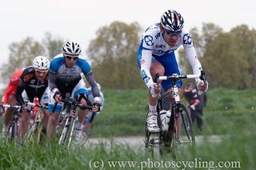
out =
[[(138, 49), (138, 66), (141, 69), (141, 77), (149, 89), (149, 114), (147, 125), (150, 132), (159, 132), (157, 122), (157, 101), (160, 93), (160, 85), (156, 85), (153, 78), (156, 73), (160, 76), (170, 76), (180, 73), (174, 51), (180, 45), (186, 52), (186, 58), (193, 68), (194, 74), (201, 73), (201, 64), (198, 61), (192, 38), (189, 32), (183, 30), (184, 21), (177, 11), (167, 10), (162, 14), (160, 23), (154, 24), (142, 34), (141, 44)], [(200, 91), (206, 91), (208, 85), (204, 85), (200, 79), (195, 80)], [(168, 90), (172, 86), (171, 81), (163, 81), (163, 89)], [(178, 81), (179, 95), (182, 97), (182, 81)], [(171, 100), (171, 99), (170, 99)], [(181, 120), (178, 121), (181, 126)]]

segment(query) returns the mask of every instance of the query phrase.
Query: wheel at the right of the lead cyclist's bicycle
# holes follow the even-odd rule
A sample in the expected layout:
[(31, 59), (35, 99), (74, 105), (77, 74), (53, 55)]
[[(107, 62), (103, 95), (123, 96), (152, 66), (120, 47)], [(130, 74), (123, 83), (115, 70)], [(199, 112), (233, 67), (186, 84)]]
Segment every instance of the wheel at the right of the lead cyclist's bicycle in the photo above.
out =
[(182, 125), (186, 133), (186, 138), (183, 138), (183, 143), (188, 142), (195, 144), (195, 138), (194, 138), (194, 131), (193, 131), (193, 124), (192, 119), (190, 117), (190, 113), (186, 109), (185, 105), (180, 105), (180, 109), (182, 112)]

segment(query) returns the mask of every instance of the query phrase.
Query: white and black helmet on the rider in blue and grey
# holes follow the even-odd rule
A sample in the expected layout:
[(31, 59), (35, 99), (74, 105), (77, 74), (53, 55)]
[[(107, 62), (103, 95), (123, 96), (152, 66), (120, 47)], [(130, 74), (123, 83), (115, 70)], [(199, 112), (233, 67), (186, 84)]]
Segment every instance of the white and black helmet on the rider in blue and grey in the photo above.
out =
[(63, 53), (70, 57), (78, 57), (81, 53), (80, 45), (76, 42), (66, 42), (62, 45)]

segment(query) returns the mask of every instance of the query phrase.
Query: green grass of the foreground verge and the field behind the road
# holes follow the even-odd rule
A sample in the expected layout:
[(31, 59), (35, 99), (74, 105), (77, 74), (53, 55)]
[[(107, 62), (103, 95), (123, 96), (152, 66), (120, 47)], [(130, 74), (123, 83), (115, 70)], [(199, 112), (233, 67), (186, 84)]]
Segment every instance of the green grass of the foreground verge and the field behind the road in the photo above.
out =
[[(94, 120), (91, 135), (143, 135), (147, 111), (146, 91), (141, 89), (105, 90), (103, 93), (106, 103), (102, 113)], [(240, 166), (239, 169), (254, 170), (256, 168), (254, 161), (256, 90), (210, 89), (207, 94), (208, 105), (204, 110), (204, 128), (201, 134), (226, 137), (219, 143), (206, 141), (195, 147), (180, 147), (177, 161), (191, 161), (194, 162), (193, 164), (197, 161), (198, 166), (204, 165), (204, 168), (198, 169), (221, 169), (216, 167), (219, 161), (228, 161), (227, 165), (236, 161)], [(106, 144), (98, 144), (89, 148), (66, 149), (57, 144), (14, 144), (0, 140), (0, 169), (90, 169), (91, 159), (103, 161), (105, 164), (103, 169), (142, 169), (138, 166), (110, 168), (107, 164), (109, 160), (133, 160), (137, 161), (137, 164), (142, 164), (143, 161), (150, 159), (153, 164), (161, 163), (161, 160), (154, 160), (149, 153), (143, 152), (143, 148), (134, 149), (114, 143), (109, 147)], [(164, 162), (174, 161), (170, 154), (162, 159)], [(194, 168), (186, 167), (186, 169)]]

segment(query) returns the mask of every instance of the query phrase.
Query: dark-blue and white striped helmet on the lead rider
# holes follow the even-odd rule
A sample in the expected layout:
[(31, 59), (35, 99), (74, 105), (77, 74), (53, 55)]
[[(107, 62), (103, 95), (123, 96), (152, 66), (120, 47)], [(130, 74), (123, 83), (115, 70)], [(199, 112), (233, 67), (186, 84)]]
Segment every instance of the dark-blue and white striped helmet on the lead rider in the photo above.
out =
[(184, 26), (182, 15), (175, 10), (167, 10), (162, 14), (161, 26), (171, 32), (181, 33)]

